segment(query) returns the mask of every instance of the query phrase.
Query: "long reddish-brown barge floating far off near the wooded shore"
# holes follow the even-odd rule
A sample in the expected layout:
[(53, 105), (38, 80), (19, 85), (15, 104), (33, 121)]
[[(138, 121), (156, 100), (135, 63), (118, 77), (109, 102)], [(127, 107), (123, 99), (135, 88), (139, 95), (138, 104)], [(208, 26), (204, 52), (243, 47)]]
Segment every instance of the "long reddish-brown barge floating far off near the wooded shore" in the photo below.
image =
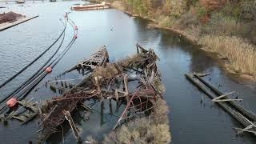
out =
[(80, 6), (72, 6), (71, 10), (102, 10), (102, 9), (109, 9), (110, 4), (106, 2), (102, 2), (100, 4), (94, 5), (80, 5)]

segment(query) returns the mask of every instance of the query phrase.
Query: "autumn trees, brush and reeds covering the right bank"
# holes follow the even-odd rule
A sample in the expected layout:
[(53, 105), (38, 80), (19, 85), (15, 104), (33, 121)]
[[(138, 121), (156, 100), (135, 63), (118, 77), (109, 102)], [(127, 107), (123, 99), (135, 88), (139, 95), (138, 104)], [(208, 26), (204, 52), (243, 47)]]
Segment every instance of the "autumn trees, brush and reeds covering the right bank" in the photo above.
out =
[[(255, 68), (248, 68), (250, 65), (252, 65), (250, 67), (256, 65), (255, 61), (250, 61), (255, 59), (256, 53), (256, 0), (118, 0), (118, 2), (122, 2), (122, 10), (150, 18), (158, 26), (176, 30), (187, 38), (195, 39), (198, 44), (211, 47), (212, 50), (229, 59), (231, 69), (256, 78)], [(121, 7), (120, 3), (115, 7)], [(225, 39), (217, 41), (218, 38)], [(204, 40), (206, 42), (203, 42)], [(238, 46), (231, 46), (231, 51), (238, 54), (230, 55), (225, 52), (230, 50), (232, 45), (228, 42), (242, 45), (238, 45), (239, 50), (235, 48)], [(222, 48), (219, 48), (219, 45), (222, 45)], [(250, 53), (247, 49), (243, 50), (248, 46), (252, 49)], [(238, 58), (239, 56), (244, 56), (248, 60), (242, 60)], [(239, 65), (234, 64), (238, 61)]]

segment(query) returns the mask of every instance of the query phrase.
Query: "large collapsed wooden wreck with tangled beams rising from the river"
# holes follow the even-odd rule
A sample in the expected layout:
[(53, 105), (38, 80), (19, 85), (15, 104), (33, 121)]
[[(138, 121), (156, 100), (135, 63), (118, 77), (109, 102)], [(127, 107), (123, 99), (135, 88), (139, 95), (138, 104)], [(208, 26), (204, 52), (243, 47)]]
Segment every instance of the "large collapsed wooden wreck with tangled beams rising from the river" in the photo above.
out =
[[(166, 106), (164, 102), (160, 102), (163, 101), (161, 99), (164, 88), (161, 83), (161, 74), (156, 64), (158, 59), (154, 50), (146, 50), (137, 45), (137, 54), (134, 56), (118, 62), (110, 62), (106, 47), (103, 46), (101, 50), (92, 54), (90, 58), (78, 62), (76, 66), (63, 74), (72, 70), (82, 70), (82, 73), (85, 74), (82, 82), (79, 82), (70, 90), (66, 90), (62, 96), (47, 100), (42, 106), (42, 110), (40, 110), (41, 122), (39, 131), (41, 138), (46, 139), (50, 134), (57, 132), (62, 122), (67, 120), (75, 138), (80, 141), (78, 128), (75, 126), (71, 116), (72, 112), (78, 106), (90, 109), (84, 104), (87, 100), (98, 99), (99, 102), (102, 102), (103, 99), (109, 99), (117, 102), (117, 106), (126, 105), (113, 130), (123, 123), (133, 122), (131, 120), (138, 120), (153, 114), (154, 120), (152, 122), (155, 123), (152, 126), (155, 126), (157, 130), (165, 131), (167, 137), (163, 138), (163, 141), (170, 142), (170, 130), (166, 116), (168, 109), (160, 108), (158, 110), (158, 106)], [(160, 112), (157, 113), (157, 111)], [(145, 121), (143, 120), (143, 122)], [(151, 129), (151, 123), (146, 123), (139, 126), (148, 126)], [(157, 126), (162, 126), (162, 128)], [(148, 137), (143, 134), (140, 135), (143, 138), (145, 137), (145, 142), (149, 143), (161, 138), (154, 136), (154, 133), (152, 134)], [(113, 138), (112, 134), (112, 136), (106, 138), (106, 142), (123, 142)]]

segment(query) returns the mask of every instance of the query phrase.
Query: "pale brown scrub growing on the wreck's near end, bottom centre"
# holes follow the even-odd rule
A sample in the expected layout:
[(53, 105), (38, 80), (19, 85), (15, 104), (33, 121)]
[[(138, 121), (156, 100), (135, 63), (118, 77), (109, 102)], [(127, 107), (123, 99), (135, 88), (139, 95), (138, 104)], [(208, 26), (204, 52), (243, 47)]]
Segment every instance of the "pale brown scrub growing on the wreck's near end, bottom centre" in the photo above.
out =
[(108, 134), (103, 143), (170, 143), (170, 126), (166, 102), (158, 99), (150, 117), (137, 118)]

